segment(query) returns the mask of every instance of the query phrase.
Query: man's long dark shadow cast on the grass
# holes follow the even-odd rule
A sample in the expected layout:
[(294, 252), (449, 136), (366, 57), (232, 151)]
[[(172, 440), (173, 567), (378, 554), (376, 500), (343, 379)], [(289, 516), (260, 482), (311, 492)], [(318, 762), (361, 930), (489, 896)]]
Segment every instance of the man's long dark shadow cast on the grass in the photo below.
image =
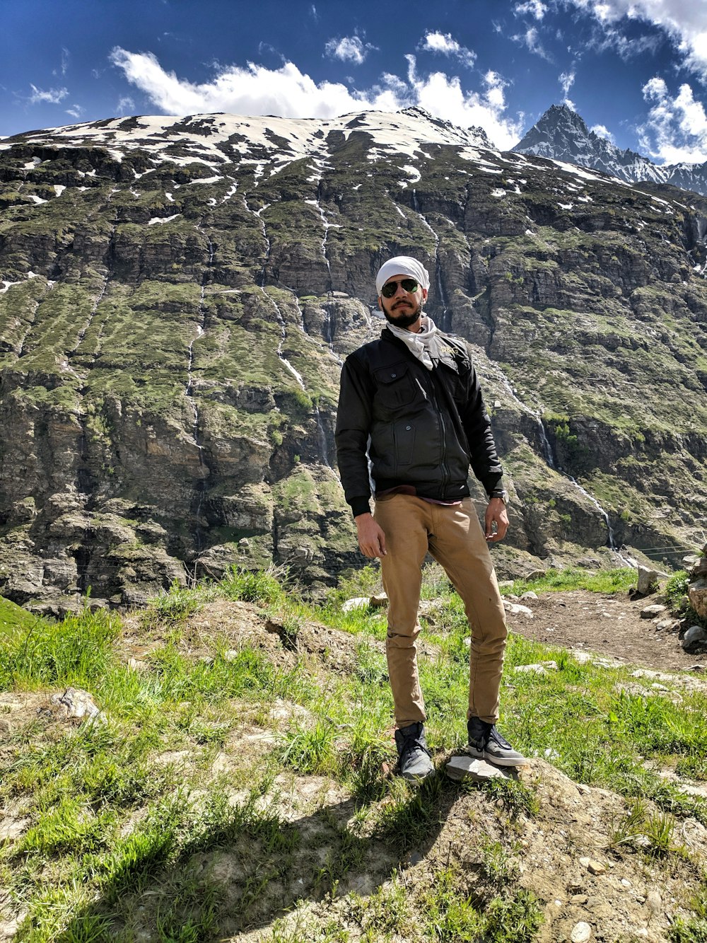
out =
[(286, 821), (254, 793), (241, 805), (211, 810), (211, 820), (207, 814), (191, 823), (194, 834), (178, 851), (179, 811), (170, 819), (166, 810), (136, 830), (120, 860), (104, 862), (98, 898), (54, 939), (206, 943), (258, 930), (267, 939), (271, 923), (297, 903), (350, 891), (367, 897), (393, 869), (417, 863), (468, 791), (443, 768), (417, 789), (394, 783), (370, 835), (356, 828), (366, 803), (355, 798)]

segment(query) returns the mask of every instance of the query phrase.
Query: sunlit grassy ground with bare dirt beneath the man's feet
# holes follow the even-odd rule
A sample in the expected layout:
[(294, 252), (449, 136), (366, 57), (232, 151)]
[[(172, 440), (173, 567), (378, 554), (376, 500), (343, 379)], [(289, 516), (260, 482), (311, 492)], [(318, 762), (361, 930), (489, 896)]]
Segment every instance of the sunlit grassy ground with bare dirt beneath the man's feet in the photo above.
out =
[[(5, 938), (518, 943), (590, 919), (606, 940), (704, 940), (707, 802), (659, 772), (705, 777), (707, 687), (641, 688), (511, 636), (501, 729), (533, 764), (452, 783), (469, 629), (431, 569), (420, 671), (440, 774), (416, 789), (391, 775), (385, 613), (341, 608), (375, 579), (316, 609), (238, 571), (124, 619), (3, 605)], [(100, 716), (67, 718), (66, 687)]]

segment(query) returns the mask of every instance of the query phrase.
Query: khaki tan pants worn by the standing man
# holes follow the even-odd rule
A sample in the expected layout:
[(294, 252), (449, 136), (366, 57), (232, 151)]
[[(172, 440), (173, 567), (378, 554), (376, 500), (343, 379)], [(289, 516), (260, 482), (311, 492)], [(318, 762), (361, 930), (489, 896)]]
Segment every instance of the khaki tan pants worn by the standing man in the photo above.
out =
[(381, 570), (388, 597), (386, 654), (396, 726), (426, 720), (416, 639), (420, 567), (428, 550), (452, 580), (469, 620), (467, 717), (495, 723), (507, 629), (496, 573), (471, 499), (444, 506), (393, 494), (376, 501), (373, 516), (386, 535)]

